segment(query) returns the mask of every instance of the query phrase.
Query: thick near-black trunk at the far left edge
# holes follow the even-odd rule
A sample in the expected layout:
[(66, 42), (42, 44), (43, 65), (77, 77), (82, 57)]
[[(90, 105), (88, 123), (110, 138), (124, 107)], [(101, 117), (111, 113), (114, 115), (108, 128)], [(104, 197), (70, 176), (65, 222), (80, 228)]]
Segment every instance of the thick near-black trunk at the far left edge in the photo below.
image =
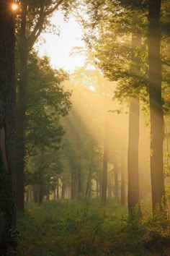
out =
[(0, 254), (16, 249), (15, 67), (11, 1), (0, 1)]

